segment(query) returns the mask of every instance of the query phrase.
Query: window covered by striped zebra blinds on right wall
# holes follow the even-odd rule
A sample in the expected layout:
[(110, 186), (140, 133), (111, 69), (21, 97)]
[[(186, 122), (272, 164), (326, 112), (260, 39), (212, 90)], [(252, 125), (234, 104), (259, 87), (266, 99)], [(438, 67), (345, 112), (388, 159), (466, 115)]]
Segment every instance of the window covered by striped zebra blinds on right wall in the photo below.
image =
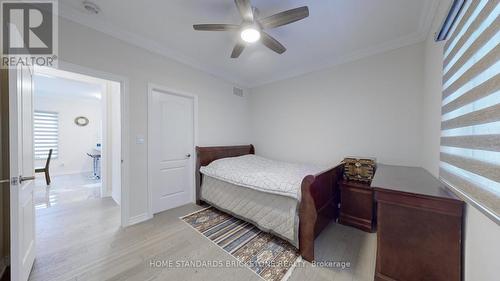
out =
[(444, 48), (440, 178), (500, 218), (500, 2), (466, 1)]

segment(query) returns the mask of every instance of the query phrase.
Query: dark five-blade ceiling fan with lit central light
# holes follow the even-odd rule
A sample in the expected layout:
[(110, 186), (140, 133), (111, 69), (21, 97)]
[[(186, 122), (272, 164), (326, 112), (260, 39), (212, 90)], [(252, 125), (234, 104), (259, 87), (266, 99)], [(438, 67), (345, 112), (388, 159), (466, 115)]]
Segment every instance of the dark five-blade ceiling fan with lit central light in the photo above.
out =
[(278, 54), (283, 54), (286, 51), (278, 40), (264, 30), (272, 29), (278, 26), (290, 24), (299, 21), (309, 16), (309, 8), (303, 6), (277, 13), (270, 17), (258, 18), (258, 10), (252, 7), (250, 0), (234, 0), (238, 11), (240, 12), (243, 21), (241, 24), (195, 24), (193, 28), (198, 31), (238, 31), (240, 32), (241, 40), (233, 48), (231, 58), (237, 58), (241, 55), (247, 43), (255, 43), (261, 41), (269, 49)]

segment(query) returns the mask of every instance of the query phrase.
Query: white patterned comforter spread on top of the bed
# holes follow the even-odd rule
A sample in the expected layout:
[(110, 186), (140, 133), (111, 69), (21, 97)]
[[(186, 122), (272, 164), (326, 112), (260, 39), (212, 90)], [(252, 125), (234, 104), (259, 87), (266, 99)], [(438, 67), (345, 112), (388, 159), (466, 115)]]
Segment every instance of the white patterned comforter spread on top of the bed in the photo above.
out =
[(222, 158), (200, 168), (204, 175), (251, 189), (300, 200), (300, 186), (307, 175), (326, 167), (291, 164), (256, 155)]

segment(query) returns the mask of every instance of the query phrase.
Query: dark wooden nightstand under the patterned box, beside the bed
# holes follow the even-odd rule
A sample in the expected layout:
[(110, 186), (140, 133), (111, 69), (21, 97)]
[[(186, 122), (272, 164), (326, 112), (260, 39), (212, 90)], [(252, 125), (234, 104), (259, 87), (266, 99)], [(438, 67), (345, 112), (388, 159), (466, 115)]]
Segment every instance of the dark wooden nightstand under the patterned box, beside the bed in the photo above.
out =
[(340, 186), (339, 223), (366, 232), (375, 231), (374, 192), (369, 183), (343, 180)]

